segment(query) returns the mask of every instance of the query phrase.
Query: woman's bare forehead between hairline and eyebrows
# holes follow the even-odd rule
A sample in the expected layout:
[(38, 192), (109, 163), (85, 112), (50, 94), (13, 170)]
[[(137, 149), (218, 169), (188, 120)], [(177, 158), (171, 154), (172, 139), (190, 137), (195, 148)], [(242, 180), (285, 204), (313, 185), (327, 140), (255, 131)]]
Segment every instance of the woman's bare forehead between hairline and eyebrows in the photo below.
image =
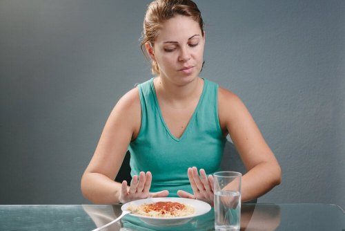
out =
[(191, 17), (177, 15), (161, 24), (156, 42), (188, 40), (193, 35), (201, 35), (201, 29), (197, 21), (194, 21)]

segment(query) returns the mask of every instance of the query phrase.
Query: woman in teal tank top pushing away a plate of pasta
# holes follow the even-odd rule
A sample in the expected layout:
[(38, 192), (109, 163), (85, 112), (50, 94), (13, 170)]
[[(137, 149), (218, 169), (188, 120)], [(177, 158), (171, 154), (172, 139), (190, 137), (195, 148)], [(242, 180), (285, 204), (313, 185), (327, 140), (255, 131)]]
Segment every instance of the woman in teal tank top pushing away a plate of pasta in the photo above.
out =
[[(193, 1), (150, 3), (141, 47), (157, 76), (126, 93), (110, 113), (81, 179), (90, 201), (178, 195), (213, 204), (212, 174), (220, 169), (228, 134), (248, 169), (242, 201), (280, 183), (279, 164), (243, 102), (199, 77), (204, 44), (204, 23)], [(114, 181), (127, 150), (130, 185)]]

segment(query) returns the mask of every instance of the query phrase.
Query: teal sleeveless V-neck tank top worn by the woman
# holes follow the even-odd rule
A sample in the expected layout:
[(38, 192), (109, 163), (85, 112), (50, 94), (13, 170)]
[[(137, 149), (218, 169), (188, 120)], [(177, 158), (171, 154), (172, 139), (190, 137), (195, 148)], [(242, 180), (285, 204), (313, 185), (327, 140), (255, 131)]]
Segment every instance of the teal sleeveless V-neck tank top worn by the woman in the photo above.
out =
[(204, 89), (184, 133), (176, 138), (170, 133), (159, 109), (153, 79), (137, 87), (141, 103), (141, 127), (130, 142), (131, 176), (150, 171), (150, 192), (177, 190), (193, 193), (188, 167), (205, 169), (206, 174), (220, 170), (226, 138), (218, 118), (218, 85), (204, 79)]

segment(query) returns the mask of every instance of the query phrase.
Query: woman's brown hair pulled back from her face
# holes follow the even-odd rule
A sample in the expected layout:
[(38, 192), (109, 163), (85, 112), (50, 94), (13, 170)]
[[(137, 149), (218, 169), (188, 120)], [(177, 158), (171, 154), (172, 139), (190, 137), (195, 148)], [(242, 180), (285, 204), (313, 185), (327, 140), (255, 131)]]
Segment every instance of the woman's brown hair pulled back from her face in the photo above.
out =
[[(148, 5), (146, 15), (144, 17), (144, 30), (141, 37), (141, 50), (143, 46), (149, 43), (154, 46), (155, 39), (159, 35), (159, 29), (164, 21), (175, 17), (175, 15), (184, 15), (191, 17), (196, 21), (204, 35), (204, 21), (201, 18), (201, 12), (192, 0), (155, 0)], [(152, 74), (159, 75), (157, 62), (152, 60)]]

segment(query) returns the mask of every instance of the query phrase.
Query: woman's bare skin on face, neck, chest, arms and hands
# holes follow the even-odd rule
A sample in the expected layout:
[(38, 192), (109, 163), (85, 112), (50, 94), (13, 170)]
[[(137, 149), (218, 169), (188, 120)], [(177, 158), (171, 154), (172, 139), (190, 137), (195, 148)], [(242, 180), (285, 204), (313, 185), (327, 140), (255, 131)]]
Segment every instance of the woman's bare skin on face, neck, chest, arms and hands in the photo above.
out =
[[(154, 80), (161, 113), (170, 132), (181, 137), (199, 101), (204, 80), (199, 77), (205, 35), (199, 24), (177, 15), (164, 22), (155, 43), (146, 50), (159, 66)], [(230, 134), (248, 169), (242, 178), (242, 201), (265, 194), (281, 181), (281, 169), (243, 102), (234, 93), (219, 88), (219, 124), (224, 136)], [(115, 105), (103, 129), (95, 154), (81, 178), (81, 191), (93, 203), (126, 203), (139, 198), (168, 196), (168, 191), (150, 192), (152, 175), (140, 172), (130, 185), (117, 183), (128, 145), (135, 140), (141, 124), (137, 88), (128, 91)], [(179, 190), (184, 198), (197, 198), (213, 205), (213, 176), (204, 169), (189, 167), (186, 174), (193, 194)]]

